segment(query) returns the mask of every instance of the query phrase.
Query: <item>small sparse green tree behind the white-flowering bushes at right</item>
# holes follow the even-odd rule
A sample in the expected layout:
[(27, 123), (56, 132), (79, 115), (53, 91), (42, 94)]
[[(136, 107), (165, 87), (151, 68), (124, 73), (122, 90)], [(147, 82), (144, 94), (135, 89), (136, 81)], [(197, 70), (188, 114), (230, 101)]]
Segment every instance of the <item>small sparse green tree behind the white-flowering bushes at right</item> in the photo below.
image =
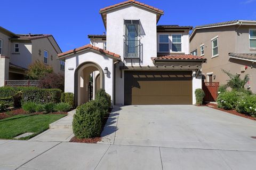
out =
[(225, 74), (227, 74), (230, 78), (229, 80), (227, 80), (227, 86), (232, 88), (233, 90), (241, 90), (250, 79), (248, 74), (246, 74), (244, 78), (241, 79), (240, 75), (233, 75), (229, 71), (226, 71), (224, 69), (222, 69), (222, 71), (225, 72)]

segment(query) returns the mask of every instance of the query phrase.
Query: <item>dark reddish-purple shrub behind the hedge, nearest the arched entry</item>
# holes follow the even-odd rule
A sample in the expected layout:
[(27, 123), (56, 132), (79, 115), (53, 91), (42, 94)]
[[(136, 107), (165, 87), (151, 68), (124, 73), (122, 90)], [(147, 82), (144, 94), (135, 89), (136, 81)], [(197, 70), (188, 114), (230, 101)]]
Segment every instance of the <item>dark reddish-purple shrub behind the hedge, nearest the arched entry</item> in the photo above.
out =
[(64, 91), (64, 76), (48, 73), (40, 79), (39, 88), (59, 88)]

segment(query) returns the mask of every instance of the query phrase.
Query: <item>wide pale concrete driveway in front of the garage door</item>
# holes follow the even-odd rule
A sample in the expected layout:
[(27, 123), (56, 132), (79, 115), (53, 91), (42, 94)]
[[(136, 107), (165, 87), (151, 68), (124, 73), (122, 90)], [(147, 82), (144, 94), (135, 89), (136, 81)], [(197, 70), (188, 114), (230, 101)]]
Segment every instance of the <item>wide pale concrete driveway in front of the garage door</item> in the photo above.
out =
[(110, 135), (102, 143), (256, 151), (256, 139), (251, 137), (256, 136), (254, 120), (191, 105), (124, 106), (118, 110), (105, 128)]

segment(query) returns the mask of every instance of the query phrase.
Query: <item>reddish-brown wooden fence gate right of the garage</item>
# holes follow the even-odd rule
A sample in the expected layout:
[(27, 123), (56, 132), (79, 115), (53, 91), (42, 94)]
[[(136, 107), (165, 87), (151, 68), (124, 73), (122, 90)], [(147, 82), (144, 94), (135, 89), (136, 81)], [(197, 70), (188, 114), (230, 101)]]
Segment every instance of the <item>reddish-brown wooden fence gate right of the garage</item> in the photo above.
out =
[(203, 82), (204, 101), (215, 102), (217, 100), (219, 86), (219, 82)]

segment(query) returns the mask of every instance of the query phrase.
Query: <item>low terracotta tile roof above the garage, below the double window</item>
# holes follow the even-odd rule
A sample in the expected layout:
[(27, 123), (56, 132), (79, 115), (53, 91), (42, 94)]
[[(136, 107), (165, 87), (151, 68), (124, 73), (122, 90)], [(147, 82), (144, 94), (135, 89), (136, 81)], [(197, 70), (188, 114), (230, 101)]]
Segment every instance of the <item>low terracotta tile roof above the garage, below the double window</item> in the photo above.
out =
[(165, 56), (153, 57), (151, 59), (153, 61), (155, 60), (206, 60), (201, 56), (196, 56), (191, 54), (170, 54)]

